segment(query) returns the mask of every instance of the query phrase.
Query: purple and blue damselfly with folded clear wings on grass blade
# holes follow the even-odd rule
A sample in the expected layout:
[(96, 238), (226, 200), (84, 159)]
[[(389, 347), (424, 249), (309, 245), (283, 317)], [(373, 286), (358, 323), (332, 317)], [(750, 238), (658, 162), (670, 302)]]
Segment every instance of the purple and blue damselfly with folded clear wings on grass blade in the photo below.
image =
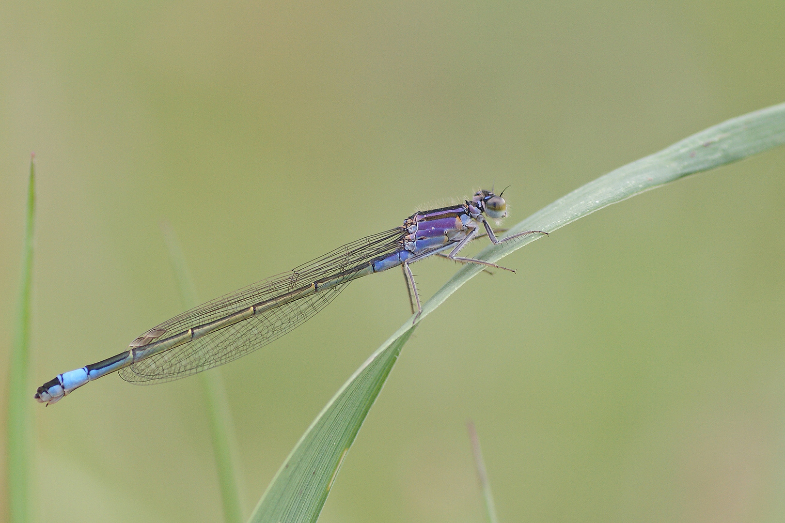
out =
[(411, 263), (439, 254), (462, 263), (506, 269), (458, 256), (458, 252), (480, 234), (480, 226), (494, 244), (526, 234), (547, 234), (524, 231), (497, 239), (486, 216), (507, 216), (502, 194), (477, 191), (462, 204), (415, 212), (401, 227), (348, 243), (290, 272), (203, 303), (148, 330), (116, 356), (57, 375), (38, 387), (35, 399), (55, 403), (71, 390), (115, 371), (133, 383), (160, 383), (223, 365), (298, 327), (350, 281), (392, 267), (403, 268), (410, 300), (414, 296), (412, 311), (417, 307), (416, 320), (422, 306)]

